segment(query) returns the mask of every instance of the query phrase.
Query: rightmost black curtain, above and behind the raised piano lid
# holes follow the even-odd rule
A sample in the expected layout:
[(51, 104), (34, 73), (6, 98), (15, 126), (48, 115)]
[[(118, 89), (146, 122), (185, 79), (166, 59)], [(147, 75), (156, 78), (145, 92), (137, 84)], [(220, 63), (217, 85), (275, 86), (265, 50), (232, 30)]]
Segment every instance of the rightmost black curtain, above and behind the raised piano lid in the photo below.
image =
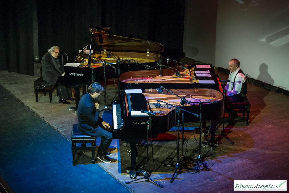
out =
[(164, 57), (183, 52), (185, 1), (105, 1), (106, 26), (117, 35), (164, 45)]

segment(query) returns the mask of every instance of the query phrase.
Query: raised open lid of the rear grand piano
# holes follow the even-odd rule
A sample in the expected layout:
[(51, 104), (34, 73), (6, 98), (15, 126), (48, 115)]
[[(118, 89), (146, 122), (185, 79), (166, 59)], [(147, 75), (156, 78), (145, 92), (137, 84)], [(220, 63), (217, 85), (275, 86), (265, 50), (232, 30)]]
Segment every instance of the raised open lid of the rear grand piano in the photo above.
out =
[(144, 39), (129, 38), (112, 34), (110, 27), (87, 26), (92, 37), (101, 49), (125, 52), (147, 52), (159, 53), (164, 51), (161, 43)]

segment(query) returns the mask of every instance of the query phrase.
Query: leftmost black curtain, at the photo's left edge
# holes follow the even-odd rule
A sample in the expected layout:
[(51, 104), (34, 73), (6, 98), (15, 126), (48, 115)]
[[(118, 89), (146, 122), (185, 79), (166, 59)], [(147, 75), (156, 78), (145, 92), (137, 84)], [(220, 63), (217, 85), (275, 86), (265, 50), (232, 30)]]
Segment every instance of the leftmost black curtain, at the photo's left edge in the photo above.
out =
[(33, 0), (1, 2), (0, 70), (34, 76)]

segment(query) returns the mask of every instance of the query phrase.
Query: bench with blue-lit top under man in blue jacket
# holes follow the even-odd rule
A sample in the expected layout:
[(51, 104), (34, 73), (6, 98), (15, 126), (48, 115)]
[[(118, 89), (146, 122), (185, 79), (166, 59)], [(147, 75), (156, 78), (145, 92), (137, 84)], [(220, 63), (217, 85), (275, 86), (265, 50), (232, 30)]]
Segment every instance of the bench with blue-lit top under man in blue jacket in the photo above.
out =
[[(88, 135), (83, 135), (78, 132), (77, 125), (72, 126), (71, 131), (71, 150), (72, 150), (72, 164), (76, 165), (75, 162), (75, 153), (77, 150), (91, 150), (91, 163), (94, 164), (94, 155), (95, 155), (95, 141), (96, 137), (91, 137)], [(81, 143), (81, 146), (76, 146), (77, 143)], [(90, 143), (90, 146), (87, 146), (86, 143)]]

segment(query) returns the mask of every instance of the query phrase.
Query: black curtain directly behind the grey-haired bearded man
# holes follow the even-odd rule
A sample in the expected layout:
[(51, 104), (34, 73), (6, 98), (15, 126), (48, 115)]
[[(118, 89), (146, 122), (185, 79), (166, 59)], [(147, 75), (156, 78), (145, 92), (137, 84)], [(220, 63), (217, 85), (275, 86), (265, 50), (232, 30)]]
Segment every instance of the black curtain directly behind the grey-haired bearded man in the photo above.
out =
[(101, 0), (37, 0), (39, 60), (56, 45), (68, 62), (90, 43), (87, 26), (101, 26)]

